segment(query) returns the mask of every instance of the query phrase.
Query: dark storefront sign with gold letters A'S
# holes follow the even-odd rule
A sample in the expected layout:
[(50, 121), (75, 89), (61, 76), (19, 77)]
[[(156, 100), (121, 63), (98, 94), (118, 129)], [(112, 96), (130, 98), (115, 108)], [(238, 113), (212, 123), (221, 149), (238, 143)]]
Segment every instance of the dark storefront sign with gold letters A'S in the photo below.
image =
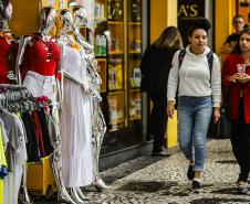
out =
[(178, 28), (184, 45), (188, 44), (188, 30), (199, 17), (205, 17), (206, 0), (178, 0)]

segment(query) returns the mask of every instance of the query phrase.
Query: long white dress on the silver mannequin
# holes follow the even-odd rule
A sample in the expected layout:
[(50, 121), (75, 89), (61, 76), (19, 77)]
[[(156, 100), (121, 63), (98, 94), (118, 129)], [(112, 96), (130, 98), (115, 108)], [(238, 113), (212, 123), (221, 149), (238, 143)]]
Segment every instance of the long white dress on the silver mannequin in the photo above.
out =
[[(62, 45), (62, 71), (88, 87), (84, 52)], [(62, 117), (62, 174), (66, 187), (85, 186), (93, 181), (91, 98), (77, 84), (65, 79)]]

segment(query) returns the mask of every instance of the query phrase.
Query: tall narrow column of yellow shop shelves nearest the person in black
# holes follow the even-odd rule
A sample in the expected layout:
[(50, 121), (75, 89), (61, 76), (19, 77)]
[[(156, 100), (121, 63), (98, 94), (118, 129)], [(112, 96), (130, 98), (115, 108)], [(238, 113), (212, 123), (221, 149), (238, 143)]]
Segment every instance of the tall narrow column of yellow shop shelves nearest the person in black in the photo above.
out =
[(128, 125), (142, 120), (140, 60), (142, 60), (142, 12), (140, 0), (127, 1), (127, 76)]

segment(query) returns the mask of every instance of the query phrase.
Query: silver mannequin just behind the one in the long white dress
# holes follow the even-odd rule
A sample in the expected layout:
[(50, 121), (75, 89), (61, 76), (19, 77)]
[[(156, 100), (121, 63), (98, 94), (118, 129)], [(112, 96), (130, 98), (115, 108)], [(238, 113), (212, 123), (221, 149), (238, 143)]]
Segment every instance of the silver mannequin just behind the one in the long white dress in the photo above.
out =
[(102, 79), (96, 72), (97, 61), (94, 55), (94, 46), (87, 43), (87, 41), (83, 37), (80, 30), (87, 24), (87, 14), (86, 10), (82, 6), (74, 6), (73, 15), (75, 20), (75, 31), (74, 35), (76, 41), (84, 47), (85, 50), (85, 60), (87, 62), (87, 73), (91, 78), (90, 89), (92, 93), (92, 137), (93, 137), (93, 162), (94, 162), (94, 181), (93, 184), (97, 190), (107, 189), (103, 180), (100, 178), (98, 173), (98, 158), (101, 146), (103, 141), (103, 137), (106, 132), (106, 124), (104, 120), (104, 116), (102, 109), (100, 107), (100, 103), (102, 97), (100, 95), (100, 85), (102, 84)]

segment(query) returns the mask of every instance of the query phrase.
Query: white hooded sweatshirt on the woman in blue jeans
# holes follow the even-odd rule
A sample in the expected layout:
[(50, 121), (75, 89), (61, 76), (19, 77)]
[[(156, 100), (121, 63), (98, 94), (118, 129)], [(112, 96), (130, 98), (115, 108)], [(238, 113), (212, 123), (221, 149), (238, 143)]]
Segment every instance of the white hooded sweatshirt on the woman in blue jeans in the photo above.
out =
[[(205, 52), (195, 55), (190, 46), (186, 47), (186, 55), (179, 67), (177, 51), (173, 57), (171, 69), (168, 77), (167, 98), (174, 100), (178, 87), (178, 96), (211, 96), (213, 107), (220, 106), (221, 100), (221, 72), (220, 62), (213, 53), (211, 74), (208, 66), (207, 54), (210, 49), (206, 46)], [(211, 76), (210, 76), (211, 75)]]

